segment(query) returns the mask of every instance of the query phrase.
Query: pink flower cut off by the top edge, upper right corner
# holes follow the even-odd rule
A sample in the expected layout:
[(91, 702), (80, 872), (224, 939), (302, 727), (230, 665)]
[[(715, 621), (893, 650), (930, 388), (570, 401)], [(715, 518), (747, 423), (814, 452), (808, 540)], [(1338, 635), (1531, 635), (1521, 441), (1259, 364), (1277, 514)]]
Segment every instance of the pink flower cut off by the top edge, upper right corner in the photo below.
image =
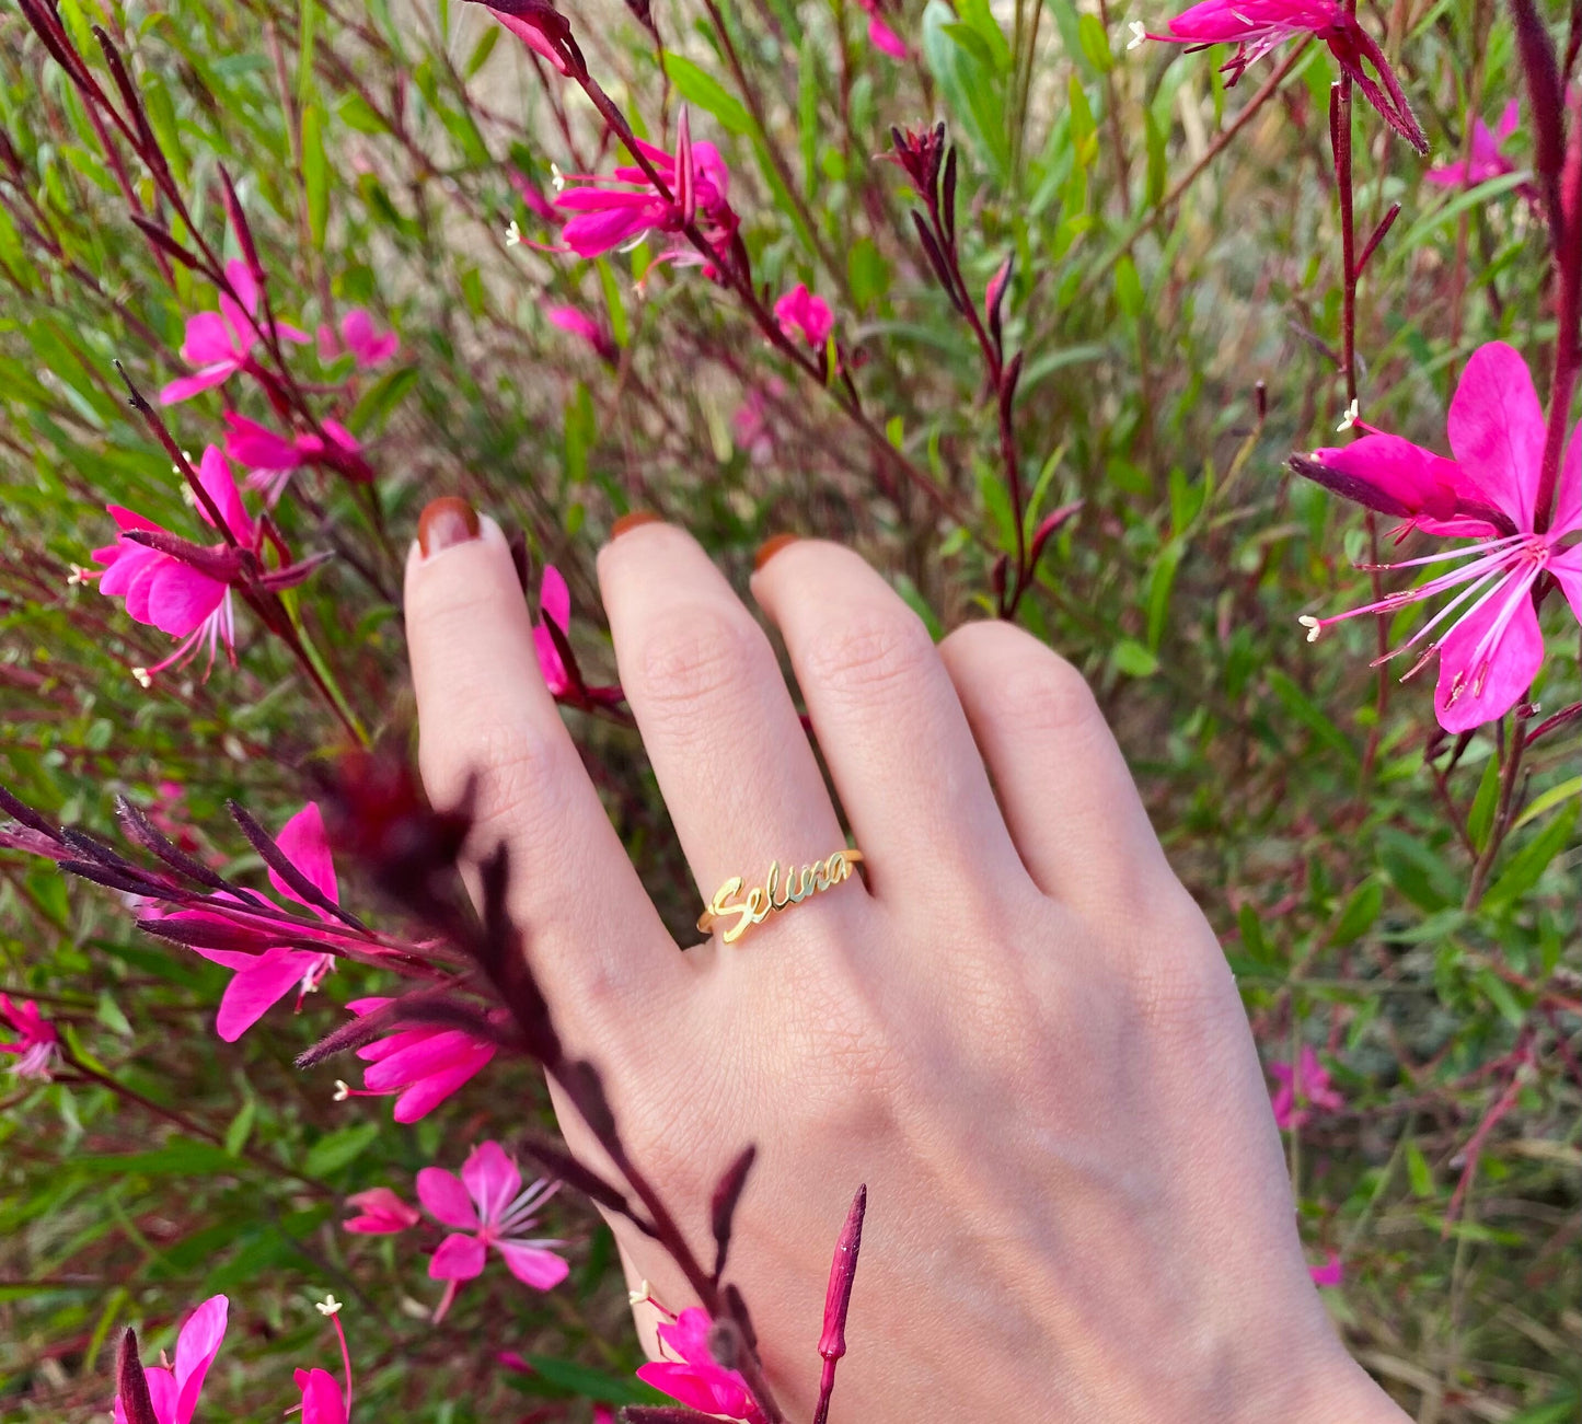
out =
[[(1384, 122), (1419, 153), (1429, 152), (1429, 139), (1413, 116), (1384, 51), (1357, 24), (1356, 16), (1346, 14), (1340, 0), (1202, 0), (1175, 16), (1169, 30), (1168, 35), (1144, 30), (1139, 40), (1193, 47), (1234, 44), (1236, 52), (1220, 66), (1229, 76), (1228, 87), (1242, 78), (1248, 65), (1286, 40), (1316, 35)], [(1364, 62), (1373, 66), (1376, 81), (1364, 70)]]

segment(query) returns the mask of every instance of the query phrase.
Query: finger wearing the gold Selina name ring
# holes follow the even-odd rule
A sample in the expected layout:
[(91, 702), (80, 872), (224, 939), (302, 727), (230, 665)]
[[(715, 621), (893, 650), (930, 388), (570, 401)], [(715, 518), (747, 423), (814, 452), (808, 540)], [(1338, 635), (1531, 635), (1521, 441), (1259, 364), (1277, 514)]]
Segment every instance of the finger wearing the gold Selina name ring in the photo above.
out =
[[(772, 861), (799, 870), (843, 848), (774, 649), (691, 535), (628, 528), (600, 554), (600, 585), (622, 687), (704, 903), (731, 877), (764, 884)], [(859, 889), (816, 899), (827, 908)]]

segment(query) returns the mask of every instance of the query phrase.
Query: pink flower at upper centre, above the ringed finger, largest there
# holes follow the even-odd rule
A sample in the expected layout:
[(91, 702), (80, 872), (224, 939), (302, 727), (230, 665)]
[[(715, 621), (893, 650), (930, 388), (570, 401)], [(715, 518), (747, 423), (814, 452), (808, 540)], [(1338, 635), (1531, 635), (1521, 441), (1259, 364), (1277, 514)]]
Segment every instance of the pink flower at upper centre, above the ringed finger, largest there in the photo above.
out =
[[(557, 207), (574, 214), (562, 229), (566, 247), (577, 256), (592, 258), (633, 242), (650, 229), (679, 233), (694, 222), (723, 263), (739, 218), (731, 210), (731, 172), (720, 150), (713, 144), (691, 141), (685, 109), (676, 125), (674, 155), (642, 139), (638, 139), (638, 149), (669, 190), (669, 199), (636, 166), (617, 168), (612, 180), (571, 179), (589, 187), (570, 188), (555, 199)], [(666, 253), (666, 258), (676, 263), (702, 261), (690, 248), (680, 247)]]

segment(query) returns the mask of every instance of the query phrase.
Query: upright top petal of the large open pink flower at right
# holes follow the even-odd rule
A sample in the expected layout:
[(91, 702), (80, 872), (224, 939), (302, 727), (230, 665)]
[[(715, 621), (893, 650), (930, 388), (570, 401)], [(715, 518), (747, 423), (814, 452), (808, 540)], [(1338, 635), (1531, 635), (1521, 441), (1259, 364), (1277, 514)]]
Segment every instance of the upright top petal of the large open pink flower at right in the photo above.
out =
[(1512, 347), (1489, 342), (1473, 351), (1446, 426), (1451, 449), (1473, 481), (1517, 528), (1530, 530), (1544, 454), (1544, 411), (1527, 362)]

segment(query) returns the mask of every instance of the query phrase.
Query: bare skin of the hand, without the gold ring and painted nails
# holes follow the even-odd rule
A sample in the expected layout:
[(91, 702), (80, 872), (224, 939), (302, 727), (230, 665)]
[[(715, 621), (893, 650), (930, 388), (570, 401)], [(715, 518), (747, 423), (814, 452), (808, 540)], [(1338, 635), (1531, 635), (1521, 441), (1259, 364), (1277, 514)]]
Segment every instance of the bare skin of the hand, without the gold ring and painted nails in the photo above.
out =
[[(769, 638), (704, 551), (649, 522), (598, 571), (699, 905), (845, 845)], [(509, 842), (563, 1036), (704, 1259), (709, 1193), (759, 1147), (729, 1275), (788, 1416), (812, 1415), (867, 1182), (840, 1424), (1405, 1419), (1308, 1278), (1236, 984), (1082, 677), (1003, 623), (935, 646), (835, 544), (780, 547), (751, 598), (867, 862), (680, 954), (544, 688), (500, 530), (407, 568), (429, 793), (481, 774), (475, 845)], [(633, 1283), (693, 1304), (617, 1236)], [(653, 1353), (652, 1308), (638, 1324)]]

